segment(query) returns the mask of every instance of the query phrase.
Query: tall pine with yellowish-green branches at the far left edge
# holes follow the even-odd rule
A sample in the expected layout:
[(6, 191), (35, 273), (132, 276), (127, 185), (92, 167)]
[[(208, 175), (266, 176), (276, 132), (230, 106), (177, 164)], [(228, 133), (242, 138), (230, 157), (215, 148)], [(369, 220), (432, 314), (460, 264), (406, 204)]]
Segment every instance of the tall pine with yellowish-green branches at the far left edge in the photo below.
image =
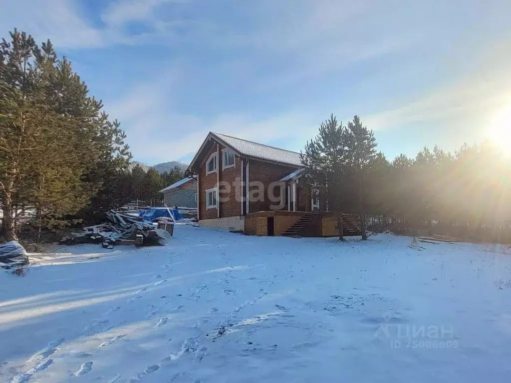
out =
[(58, 150), (58, 132), (68, 127), (41, 86), (54, 56), (25, 33), (15, 30), (11, 39), (0, 43), (0, 236), (8, 241), (16, 239), (13, 205), (36, 194), (40, 177), (34, 171), (41, 169), (41, 158)]

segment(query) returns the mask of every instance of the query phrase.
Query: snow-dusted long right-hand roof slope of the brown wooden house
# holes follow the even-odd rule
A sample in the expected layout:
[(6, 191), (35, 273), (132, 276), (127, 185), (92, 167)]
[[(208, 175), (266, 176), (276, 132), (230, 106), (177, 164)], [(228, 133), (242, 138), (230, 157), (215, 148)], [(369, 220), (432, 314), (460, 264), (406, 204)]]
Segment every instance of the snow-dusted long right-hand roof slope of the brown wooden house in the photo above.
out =
[(263, 145), (262, 143), (247, 141), (241, 138), (231, 137), (221, 133), (212, 132), (212, 134), (224, 141), (227, 146), (234, 149), (240, 155), (281, 162), (293, 166), (303, 166), (300, 159), (300, 153)]

